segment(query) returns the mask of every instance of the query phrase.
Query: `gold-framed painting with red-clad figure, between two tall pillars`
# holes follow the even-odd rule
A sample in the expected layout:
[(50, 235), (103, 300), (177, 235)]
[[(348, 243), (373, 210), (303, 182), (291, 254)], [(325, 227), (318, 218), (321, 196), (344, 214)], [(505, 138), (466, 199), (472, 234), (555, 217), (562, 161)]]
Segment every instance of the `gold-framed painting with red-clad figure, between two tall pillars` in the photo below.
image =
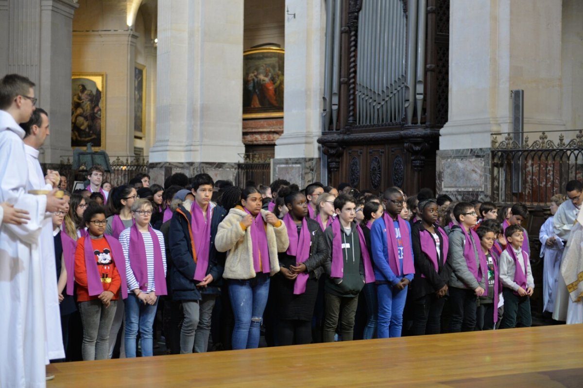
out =
[(284, 54), (276, 47), (243, 52), (243, 118), (283, 117)]

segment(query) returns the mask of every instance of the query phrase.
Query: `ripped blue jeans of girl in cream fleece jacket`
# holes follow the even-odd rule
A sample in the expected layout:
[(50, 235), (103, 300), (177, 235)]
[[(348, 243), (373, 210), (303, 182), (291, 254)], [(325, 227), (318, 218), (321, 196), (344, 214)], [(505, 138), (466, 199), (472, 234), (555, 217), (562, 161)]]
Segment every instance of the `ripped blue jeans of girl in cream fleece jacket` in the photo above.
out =
[(269, 274), (247, 280), (229, 279), (229, 297), (235, 316), (233, 350), (259, 347), (259, 329), (269, 295)]

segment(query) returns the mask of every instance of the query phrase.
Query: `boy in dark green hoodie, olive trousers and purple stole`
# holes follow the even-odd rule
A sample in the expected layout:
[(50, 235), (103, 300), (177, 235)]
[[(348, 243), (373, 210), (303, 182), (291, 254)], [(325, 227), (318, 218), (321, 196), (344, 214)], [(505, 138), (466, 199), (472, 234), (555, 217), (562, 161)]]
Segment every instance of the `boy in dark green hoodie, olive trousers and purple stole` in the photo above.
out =
[(356, 200), (349, 195), (339, 195), (334, 200), (338, 217), (324, 231), (328, 246), (328, 259), (324, 269), (325, 280), (324, 342), (333, 342), (338, 317), (343, 341), (352, 341), (354, 316), (360, 290), (365, 283), (374, 281), (373, 266), (368, 256), (364, 234), (354, 222)]

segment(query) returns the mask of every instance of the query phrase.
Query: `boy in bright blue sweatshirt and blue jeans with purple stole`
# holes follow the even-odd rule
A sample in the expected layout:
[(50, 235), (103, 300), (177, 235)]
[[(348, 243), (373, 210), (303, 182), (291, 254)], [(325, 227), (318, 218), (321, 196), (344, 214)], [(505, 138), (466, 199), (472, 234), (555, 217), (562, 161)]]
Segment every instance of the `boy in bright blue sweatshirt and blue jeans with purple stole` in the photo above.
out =
[(401, 337), (408, 286), (415, 274), (411, 230), (399, 214), (403, 195), (397, 188), (382, 196), (385, 214), (370, 231), (378, 298), (378, 338)]

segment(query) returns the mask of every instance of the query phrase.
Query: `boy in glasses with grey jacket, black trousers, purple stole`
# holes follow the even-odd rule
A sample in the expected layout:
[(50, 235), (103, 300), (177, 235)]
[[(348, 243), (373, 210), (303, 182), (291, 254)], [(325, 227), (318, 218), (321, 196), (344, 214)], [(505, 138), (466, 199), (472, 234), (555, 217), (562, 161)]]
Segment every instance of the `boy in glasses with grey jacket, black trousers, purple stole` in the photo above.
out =
[(447, 260), (453, 269), (449, 277), (451, 319), (449, 331), (473, 331), (476, 327), (476, 297), (486, 294), (488, 265), (480, 238), (472, 229), (477, 222), (474, 206), (460, 202), (454, 207), (458, 225), (449, 233)]

